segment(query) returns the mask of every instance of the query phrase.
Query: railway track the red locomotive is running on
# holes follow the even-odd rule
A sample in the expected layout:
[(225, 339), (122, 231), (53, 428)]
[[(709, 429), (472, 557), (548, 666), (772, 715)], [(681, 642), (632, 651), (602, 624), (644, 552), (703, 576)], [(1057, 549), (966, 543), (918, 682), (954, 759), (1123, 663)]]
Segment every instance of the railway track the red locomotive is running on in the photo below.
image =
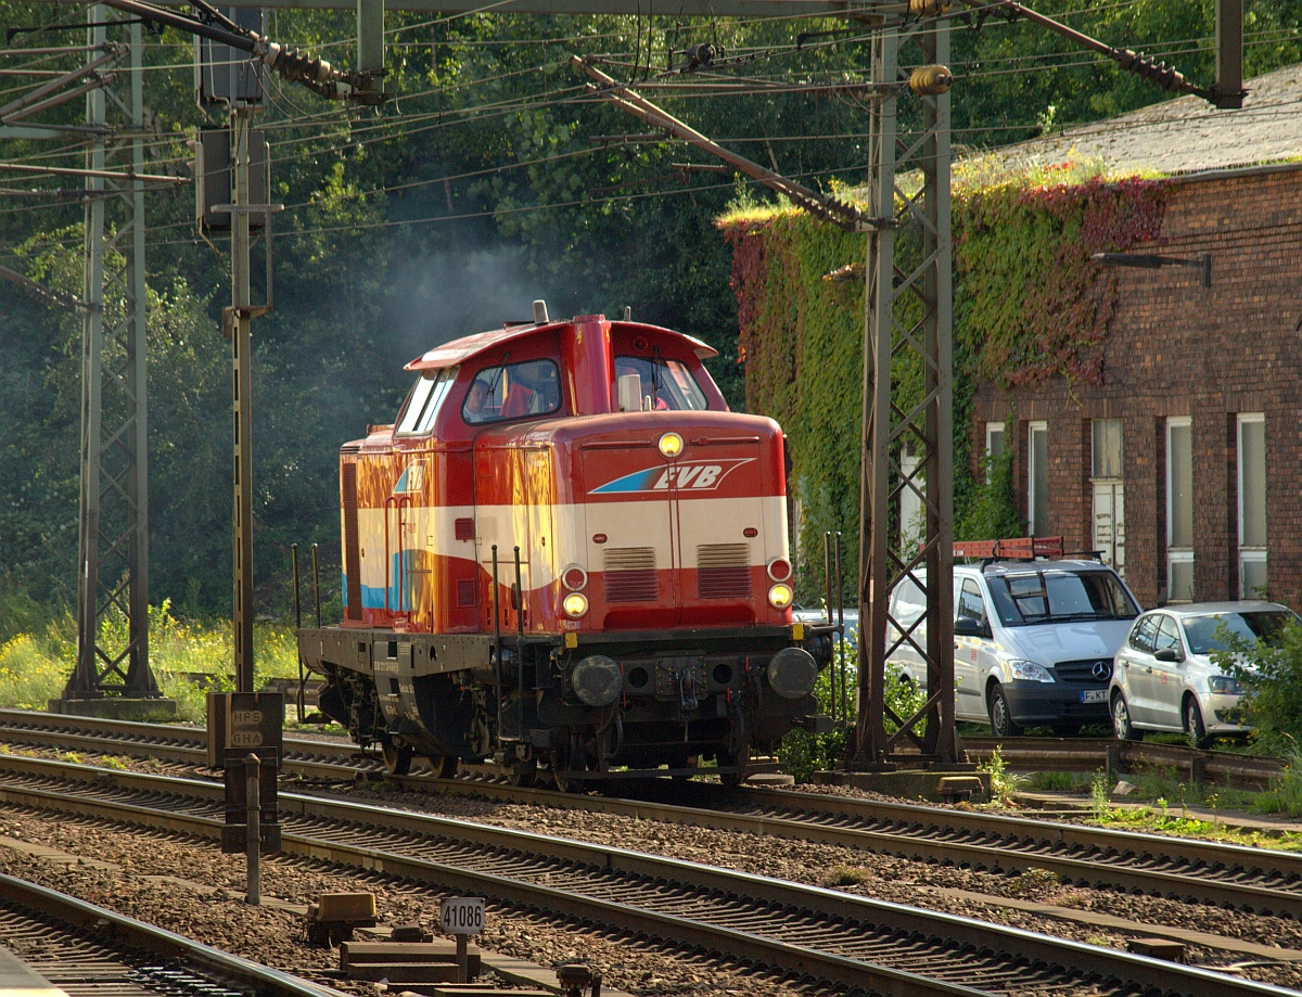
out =
[[(81, 725), (70, 730), (68, 725)], [(115, 735), (128, 735), (122, 742)], [(73, 751), (126, 751), (206, 765), (204, 731), (152, 724), (81, 721), (0, 711), (0, 738), (29, 738)], [(383, 768), (341, 742), (285, 739), (286, 774), (333, 782)], [(763, 834), (861, 849), (898, 858), (1019, 875), (1055, 873), (1062, 882), (1250, 910), (1302, 922), (1302, 856), (1268, 849), (1203, 842), (1075, 824), (909, 803), (743, 787), (723, 793), (706, 784), (644, 787), (642, 799), (575, 797), (540, 789), (431, 777), (385, 777), (443, 795), (490, 797), (510, 803)]]

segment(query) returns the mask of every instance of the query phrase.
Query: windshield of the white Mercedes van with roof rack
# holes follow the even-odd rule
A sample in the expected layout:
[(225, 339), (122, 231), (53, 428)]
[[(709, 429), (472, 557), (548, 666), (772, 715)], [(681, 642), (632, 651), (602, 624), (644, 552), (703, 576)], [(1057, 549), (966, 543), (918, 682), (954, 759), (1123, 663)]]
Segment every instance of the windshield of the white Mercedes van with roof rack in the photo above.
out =
[(988, 577), (1004, 626), (1134, 620), (1139, 607), (1112, 571), (1017, 571)]

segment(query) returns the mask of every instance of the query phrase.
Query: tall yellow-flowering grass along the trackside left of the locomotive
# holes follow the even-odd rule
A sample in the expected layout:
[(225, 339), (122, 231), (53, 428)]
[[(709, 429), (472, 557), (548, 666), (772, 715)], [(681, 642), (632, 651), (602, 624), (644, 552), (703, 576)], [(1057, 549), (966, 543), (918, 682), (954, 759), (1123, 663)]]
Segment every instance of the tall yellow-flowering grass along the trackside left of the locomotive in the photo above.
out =
[[(234, 689), (230, 623), (181, 621), (171, 609), (167, 600), (150, 607), (150, 668), (159, 691), (176, 700), (178, 717), (202, 722), (206, 689)], [(121, 648), (126, 640), (125, 617), (105, 617), (100, 647)], [(39, 633), (17, 634), (0, 644), (0, 707), (44, 709), (48, 700), (62, 695), (76, 655), (76, 625), (66, 613)], [(270, 678), (298, 677), (293, 627), (256, 623), (254, 656), (255, 687)]]

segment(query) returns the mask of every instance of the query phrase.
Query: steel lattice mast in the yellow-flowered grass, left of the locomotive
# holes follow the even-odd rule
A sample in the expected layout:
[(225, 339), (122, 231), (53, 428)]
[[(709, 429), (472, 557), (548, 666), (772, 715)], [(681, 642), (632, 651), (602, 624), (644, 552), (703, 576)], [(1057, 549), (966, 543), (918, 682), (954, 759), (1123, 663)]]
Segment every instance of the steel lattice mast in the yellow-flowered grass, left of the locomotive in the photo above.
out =
[[(108, 8), (90, 8), (87, 60), (103, 51), (108, 20)], [(145, 42), (139, 22), (128, 30), (125, 85), (118, 78), (86, 98), (87, 125), (99, 130), (86, 163), (139, 176)], [(85, 224), (77, 664), (51, 704), (78, 713), (167, 703), (148, 664), (145, 181), (89, 176)]]

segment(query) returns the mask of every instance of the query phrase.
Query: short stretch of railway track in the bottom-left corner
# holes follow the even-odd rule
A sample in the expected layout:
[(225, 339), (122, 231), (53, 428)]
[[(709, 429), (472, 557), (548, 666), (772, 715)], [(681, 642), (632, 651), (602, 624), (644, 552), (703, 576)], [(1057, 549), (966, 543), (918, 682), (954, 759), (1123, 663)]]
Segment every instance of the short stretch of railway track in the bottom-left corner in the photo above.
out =
[(77, 997), (345, 997), (329, 987), (4, 875), (0, 946)]

